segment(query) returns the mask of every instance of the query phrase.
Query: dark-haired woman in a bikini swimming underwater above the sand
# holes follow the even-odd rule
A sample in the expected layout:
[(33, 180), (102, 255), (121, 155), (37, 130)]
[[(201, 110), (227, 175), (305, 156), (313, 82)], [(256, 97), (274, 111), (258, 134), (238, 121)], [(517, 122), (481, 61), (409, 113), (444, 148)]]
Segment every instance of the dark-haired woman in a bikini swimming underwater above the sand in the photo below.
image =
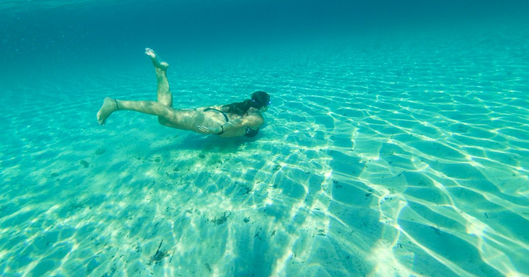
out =
[(173, 108), (167, 80), (169, 64), (161, 61), (152, 49), (146, 48), (145, 54), (151, 57), (156, 70), (158, 101), (126, 101), (105, 97), (103, 106), (97, 112), (99, 124), (104, 125), (106, 119), (117, 110), (134, 110), (156, 115), (160, 124), (171, 128), (200, 134), (216, 134), (221, 137), (254, 137), (259, 132), (259, 127), (265, 123), (261, 113), (266, 112), (270, 106), (270, 95), (265, 91), (256, 91), (251, 99), (227, 105), (195, 109)]

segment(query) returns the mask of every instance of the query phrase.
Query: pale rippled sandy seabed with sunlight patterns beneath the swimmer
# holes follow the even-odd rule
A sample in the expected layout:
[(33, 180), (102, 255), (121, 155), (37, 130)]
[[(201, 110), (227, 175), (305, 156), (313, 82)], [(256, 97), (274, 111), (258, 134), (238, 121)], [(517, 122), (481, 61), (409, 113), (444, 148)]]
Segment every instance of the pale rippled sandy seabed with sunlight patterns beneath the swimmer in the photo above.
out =
[(529, 276), (527, 50), (371, 39), (169, 61), (175, 105), (269, 91), (254, 140), (131, 112), (98, 126), (104, 96), (154, 99), (141, 53), (13, 86), (0, 275)]

